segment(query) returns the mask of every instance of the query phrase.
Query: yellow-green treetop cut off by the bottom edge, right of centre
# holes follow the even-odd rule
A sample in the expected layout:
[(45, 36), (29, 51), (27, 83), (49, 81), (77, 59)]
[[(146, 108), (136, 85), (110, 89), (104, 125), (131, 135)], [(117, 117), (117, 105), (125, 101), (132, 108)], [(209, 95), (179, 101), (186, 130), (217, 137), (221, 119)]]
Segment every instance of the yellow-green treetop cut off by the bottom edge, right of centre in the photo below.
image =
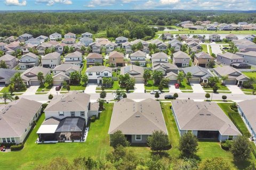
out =
[(199, 164), (199, 170), (231, 170), (231, 166), (221, 157), (206, 158)]

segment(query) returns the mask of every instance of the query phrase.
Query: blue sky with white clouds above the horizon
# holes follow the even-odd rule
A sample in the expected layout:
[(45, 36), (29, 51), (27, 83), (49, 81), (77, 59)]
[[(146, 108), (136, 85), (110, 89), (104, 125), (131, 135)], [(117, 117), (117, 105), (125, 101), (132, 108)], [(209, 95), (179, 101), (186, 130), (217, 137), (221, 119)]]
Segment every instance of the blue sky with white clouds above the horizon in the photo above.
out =
[(0, 10), (256, 10), (256, 0), (0, 0)]

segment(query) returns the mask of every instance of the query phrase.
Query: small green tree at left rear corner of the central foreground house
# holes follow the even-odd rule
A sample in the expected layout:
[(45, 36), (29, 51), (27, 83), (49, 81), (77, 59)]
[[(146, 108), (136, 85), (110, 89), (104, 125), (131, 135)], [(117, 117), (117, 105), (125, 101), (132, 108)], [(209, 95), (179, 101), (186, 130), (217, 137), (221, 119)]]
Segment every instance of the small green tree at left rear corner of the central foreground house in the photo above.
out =
[(110, 146), (113, 148), (116, 148), (117, 146), (127, 147), (129, 146), (129, 142), (122, 131), (118, 130), (113, 134), (110, 134)]

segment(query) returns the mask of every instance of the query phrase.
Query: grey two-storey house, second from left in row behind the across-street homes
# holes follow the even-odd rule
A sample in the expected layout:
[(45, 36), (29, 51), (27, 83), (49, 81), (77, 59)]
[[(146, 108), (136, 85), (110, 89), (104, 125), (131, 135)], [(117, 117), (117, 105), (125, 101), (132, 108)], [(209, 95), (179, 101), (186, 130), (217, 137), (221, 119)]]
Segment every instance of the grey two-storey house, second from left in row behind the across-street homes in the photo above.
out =
[(26, 70), (38, 65), (39, 65), (38, 56), (35, 55), (34, 53), (29, 52), (28, 54), (25, 54), (20, 58), (19, 66), (21, 70)]

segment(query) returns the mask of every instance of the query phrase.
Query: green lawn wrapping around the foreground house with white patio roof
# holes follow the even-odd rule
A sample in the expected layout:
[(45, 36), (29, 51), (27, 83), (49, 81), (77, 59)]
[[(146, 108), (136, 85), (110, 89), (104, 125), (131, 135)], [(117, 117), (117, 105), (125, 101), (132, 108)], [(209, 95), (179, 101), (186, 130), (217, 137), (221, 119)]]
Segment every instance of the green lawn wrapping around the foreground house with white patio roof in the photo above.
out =
[(36, 132), (44, 121), (42, 115), (21, 151), (0, 152), (0, 169), (34, 169), (38, 165), (49, 163), (55, 157), (67, 158), (69, 161), (78, 156), (105, 158), (111, 151), (108, 129), (113, 105), (105, 105), (106, 109), (100, 114), (100, 119), (91, 123), (86, 142), (81, 143), (36, 144)]

